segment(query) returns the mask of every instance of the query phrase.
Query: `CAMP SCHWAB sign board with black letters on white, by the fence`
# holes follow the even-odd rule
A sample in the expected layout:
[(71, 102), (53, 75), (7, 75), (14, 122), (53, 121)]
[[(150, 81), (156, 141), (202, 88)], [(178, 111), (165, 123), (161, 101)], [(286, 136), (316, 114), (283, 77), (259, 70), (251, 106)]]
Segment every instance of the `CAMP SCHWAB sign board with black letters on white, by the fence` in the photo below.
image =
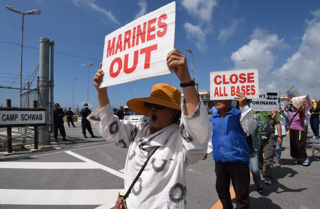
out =
[(0, 125), (45, 123), (45, 111), (0, 111)]

